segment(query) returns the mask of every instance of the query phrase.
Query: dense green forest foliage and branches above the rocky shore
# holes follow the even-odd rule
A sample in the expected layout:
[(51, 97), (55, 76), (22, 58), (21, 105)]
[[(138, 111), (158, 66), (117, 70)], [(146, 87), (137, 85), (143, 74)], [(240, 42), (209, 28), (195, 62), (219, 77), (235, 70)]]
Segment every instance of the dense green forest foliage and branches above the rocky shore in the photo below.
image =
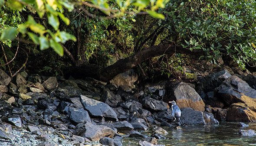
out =
[(188, 58), (255, 68), (254, 0), (0, 0), (0, 68), (109, 81), (183, 72)]

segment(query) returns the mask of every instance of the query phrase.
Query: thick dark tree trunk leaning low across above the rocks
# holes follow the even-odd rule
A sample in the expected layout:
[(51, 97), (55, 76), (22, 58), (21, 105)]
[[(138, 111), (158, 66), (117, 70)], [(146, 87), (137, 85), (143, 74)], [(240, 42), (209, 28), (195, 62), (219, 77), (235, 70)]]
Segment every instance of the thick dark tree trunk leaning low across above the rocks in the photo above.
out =
[(110, 65), (106, 68), (101, 68), (96, 65), (92, 66), (81, 66), (80, 68), (72, 68), (71, 74), (75, 78), (85, 78), (92, 77), (100, 81), (110, 81), (115, 75), (123, 73), (130, 70), (131, 68), (138, 65), (148, 58), (156, 57), (163, 54), (173, 54), (181, 53), (187, 55), (205, 55), (202, 50), (193, 50), (185, 49), (182, 46), (171, 46), (171, 45), (154, 45), (148, 49), (141, 50), (140, 52), (135, 53), (134, 55), (120, 59), (115, 64)]

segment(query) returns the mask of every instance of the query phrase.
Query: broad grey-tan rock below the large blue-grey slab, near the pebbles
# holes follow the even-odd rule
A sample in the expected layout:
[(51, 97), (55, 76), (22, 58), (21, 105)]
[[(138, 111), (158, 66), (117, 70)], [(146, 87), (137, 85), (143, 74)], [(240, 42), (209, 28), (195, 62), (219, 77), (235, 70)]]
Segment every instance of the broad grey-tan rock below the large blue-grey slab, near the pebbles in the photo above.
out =
[(75, 127), (75, 135), (86, 137), (89, 140), (96, 141), (100, 140), (102, 137), (108, 136), (112, 138), (115, 135), (115, 131), (104, 126), (95, 125), (89, 122), (79, 123)]

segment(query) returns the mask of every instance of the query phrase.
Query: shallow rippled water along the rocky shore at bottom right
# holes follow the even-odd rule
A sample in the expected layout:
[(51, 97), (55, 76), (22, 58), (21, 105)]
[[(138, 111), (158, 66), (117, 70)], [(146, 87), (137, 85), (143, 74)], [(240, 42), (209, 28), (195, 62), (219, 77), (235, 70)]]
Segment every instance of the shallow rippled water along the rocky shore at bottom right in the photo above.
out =
[[(249, 127), (239, 127), (239, 122), (224, 122), (219, 125), (190, 125), (181, 130), (163, 127), (168, 131), (167, 139), (158, 140), (165, 146), (256, 146), (256, 136), (240, 136), (240, 129), (256, 130), (256, 123), (246, 123)], [(150, 136), (150, 133), (144, 133)], [(123, 138), (123, 146), (138, 146), (140, 139)]]

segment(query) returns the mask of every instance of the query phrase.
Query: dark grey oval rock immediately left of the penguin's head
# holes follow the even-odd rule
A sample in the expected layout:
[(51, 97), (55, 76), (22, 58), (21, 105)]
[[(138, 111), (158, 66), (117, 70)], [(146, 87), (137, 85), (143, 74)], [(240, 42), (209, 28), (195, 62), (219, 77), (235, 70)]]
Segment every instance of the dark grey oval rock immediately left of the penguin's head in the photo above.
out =
[(145, 109), (148, 110), (167, 110), (169, 108), (169, 105), (164, 101), (158, 101), (150, 97), (146, 97), (142, 100), (142, 105)]

